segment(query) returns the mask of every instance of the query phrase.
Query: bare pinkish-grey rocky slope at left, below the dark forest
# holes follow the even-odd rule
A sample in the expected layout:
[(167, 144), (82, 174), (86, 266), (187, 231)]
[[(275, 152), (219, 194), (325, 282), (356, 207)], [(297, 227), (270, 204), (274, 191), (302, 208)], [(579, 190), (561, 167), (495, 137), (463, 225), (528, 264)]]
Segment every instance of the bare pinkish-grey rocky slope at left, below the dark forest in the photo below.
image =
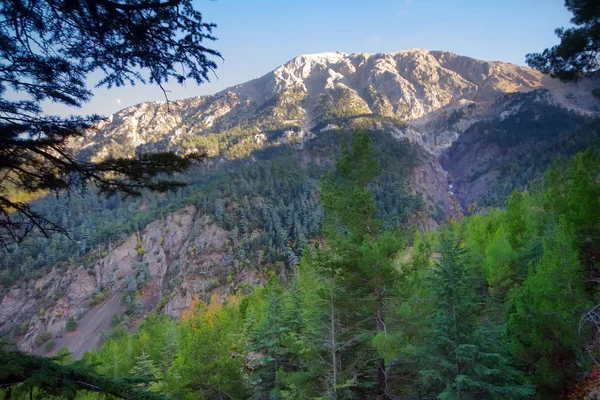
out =
[[(227, 271), (221, 265), (227, 237), (226, 231), (199, 215), (195, 207), (183, 208), (152, 222), (88, 268), (53, 269), (33, 288), (12, 289), (0, 303), (0, 328), (14, 323), (16, 316), (34, 311), (20, 338), (21, 349), (43, 352), (36, 339), (49, 332), (56, 348), (65, 345), (80, 357), (108, 334), (114, 315), (125, 313), (123, 293), (127, 294), (127, 282), (141, 268), (148, 276), (143, 286), (135, 289), (141, 292), (140, 314), (155, 309), (162, 299), (161, 310), (176, 317), (187, 309), (193, 295), (218, 287), (223, 290)], [(245, 279), (252, 281), (248, 276)], [(166, 290), (168, 280), (179, 280), (177, 291)], [(40, 296), (52, 298), (53, 304), (39, 309), (36, 300)], [(94, 298), (101, 300), (91, 304)], [(68, 333), (66, 321), (71, 316), (79, 319), (79, 328)]]

